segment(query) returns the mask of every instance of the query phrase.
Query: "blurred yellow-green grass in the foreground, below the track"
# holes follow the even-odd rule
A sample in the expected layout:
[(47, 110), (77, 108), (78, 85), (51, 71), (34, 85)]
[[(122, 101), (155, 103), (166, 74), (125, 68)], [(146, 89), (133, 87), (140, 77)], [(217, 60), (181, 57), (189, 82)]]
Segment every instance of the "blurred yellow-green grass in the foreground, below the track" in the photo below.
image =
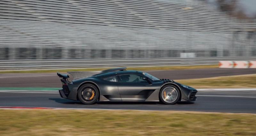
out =
[(0, 110), (2, 136), (256, 135), (255, 114), (127, 110)]

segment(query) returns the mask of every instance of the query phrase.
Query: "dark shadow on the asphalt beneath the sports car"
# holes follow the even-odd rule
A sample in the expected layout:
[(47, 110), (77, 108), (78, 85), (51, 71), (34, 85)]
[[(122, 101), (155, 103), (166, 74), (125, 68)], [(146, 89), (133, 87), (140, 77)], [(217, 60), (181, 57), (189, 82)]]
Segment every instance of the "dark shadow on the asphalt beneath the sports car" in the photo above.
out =
[[(52, 100), (61, 104), (83, 104), (80, 101), (68, 100), (63, 98), (49, 98), (49, 100)], [(95, 104), (163, 104), (163, 103), (161, 102), (96, 102)], [(176, 104), (194, 104), (194, 102), (181, 101), (181, 102), (177, 102)]]

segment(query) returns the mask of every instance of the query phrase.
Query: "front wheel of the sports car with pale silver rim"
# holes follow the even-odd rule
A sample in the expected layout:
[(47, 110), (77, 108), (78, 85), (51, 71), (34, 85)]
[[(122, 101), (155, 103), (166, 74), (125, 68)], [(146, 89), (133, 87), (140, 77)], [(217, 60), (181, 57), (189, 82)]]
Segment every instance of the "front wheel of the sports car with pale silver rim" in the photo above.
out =
[(180, 90), (174, 85), (165, 85), (159, 92), (159, 100), (164, 104), (176, 104), (180, 99)]

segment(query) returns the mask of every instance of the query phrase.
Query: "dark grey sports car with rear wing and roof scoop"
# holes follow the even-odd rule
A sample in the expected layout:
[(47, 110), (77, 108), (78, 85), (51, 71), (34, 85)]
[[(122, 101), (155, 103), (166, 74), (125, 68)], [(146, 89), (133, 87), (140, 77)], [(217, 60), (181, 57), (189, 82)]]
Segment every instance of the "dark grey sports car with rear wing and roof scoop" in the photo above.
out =
[(158, 79), (146, 72), (113, 68), (99, 74), (70, 79), (62, 78), (60, 96), (80, 100), (84, 104), (96, 101), (145, 101), (175, 104), (177, 101), (195, 101), (197, 90), (169, 79)]

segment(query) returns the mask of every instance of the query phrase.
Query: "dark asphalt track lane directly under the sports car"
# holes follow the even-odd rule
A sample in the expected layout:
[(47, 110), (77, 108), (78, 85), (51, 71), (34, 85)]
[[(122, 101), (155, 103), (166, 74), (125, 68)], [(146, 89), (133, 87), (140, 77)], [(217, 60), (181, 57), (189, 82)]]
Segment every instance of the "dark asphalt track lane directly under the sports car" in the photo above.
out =
[(57, 91), (0, 91), (0, 106), (256, 113), (255, 105), (256, 90), (199, 91), (195, 102), (178, 102), (174, 105), (159, 102), (99, 102), (84, 105), (61, 98)]

